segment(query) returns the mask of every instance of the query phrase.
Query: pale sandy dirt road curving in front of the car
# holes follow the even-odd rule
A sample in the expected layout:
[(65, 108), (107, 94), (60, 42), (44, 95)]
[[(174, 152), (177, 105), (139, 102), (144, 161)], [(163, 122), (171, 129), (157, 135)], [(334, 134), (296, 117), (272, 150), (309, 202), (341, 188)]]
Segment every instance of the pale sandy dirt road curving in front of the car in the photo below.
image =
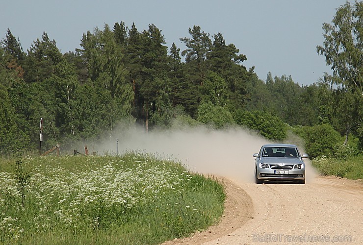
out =
[(316, 176), (305, 185), (226, 179), (222, 221), (166, 244), (363, 244), (363, 183)]

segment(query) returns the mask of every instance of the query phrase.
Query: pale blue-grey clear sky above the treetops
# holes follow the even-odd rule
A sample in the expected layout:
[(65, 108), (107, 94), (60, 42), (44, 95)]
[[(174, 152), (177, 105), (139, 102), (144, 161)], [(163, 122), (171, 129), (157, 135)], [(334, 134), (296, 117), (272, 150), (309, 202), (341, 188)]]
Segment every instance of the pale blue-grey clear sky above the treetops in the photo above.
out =
[[(353, 2), (351, 0), (351, 2)], [(212, 35), (221, 32), (247, 56), (259, 78), (291, 75), (300, 85), (330, 73), (324, 56), (322, 24), (331, 23), (345, 0), (5, 0), (1, 3), (0, 39), (6, 29), (20, 39), (24, 50), (44, 31), (62, 53), (79, 48), (82, 34), (104, 24), (134, 22), (138, 31), (156, 25), (168, 47), (183, 50), (181, 37), (199, 25)], [(212, 39), (213, 40), (213, 39)]]

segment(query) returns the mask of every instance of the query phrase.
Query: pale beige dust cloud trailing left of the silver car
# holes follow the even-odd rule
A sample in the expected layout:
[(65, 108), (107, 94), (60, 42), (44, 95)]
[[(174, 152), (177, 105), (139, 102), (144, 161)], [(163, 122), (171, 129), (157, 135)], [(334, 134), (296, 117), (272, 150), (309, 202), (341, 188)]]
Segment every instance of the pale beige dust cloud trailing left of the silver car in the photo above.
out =
[(192, 172), (241, 182), (254, 182), (253, 153), (259, 152), (261, 145), (269, 143), (240, 128), (216, 131), (195, 127), (146, 133), (143, 128), (127, 127), (115, 131), (108, 142), (94, 148), (98, 152), (117, 151), (118, 154), (130, 150), (152, 153), (160, 158), (179, 161)]

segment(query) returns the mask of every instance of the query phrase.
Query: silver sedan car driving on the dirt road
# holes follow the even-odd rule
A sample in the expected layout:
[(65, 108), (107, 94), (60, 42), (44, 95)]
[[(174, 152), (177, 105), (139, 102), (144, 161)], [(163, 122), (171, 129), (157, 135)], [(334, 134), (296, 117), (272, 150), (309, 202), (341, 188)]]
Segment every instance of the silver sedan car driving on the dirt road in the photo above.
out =
[(300, 154), (295, 145), (269, 144), (263, 145), (259, 153), (253, 154), (255, 159), (256, 183), (265, 180), (295, 181), (305, 184), (305, 168), (303, 158), (307, 154)]

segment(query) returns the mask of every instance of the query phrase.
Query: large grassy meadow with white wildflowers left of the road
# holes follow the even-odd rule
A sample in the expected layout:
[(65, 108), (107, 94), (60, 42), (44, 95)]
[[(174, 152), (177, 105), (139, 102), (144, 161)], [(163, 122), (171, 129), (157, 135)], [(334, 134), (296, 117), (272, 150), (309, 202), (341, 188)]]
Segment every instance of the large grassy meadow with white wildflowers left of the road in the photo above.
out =
[(0, 160), (0, 243), (160, 244), (205, 229), (223, 183), (145, 153)]

